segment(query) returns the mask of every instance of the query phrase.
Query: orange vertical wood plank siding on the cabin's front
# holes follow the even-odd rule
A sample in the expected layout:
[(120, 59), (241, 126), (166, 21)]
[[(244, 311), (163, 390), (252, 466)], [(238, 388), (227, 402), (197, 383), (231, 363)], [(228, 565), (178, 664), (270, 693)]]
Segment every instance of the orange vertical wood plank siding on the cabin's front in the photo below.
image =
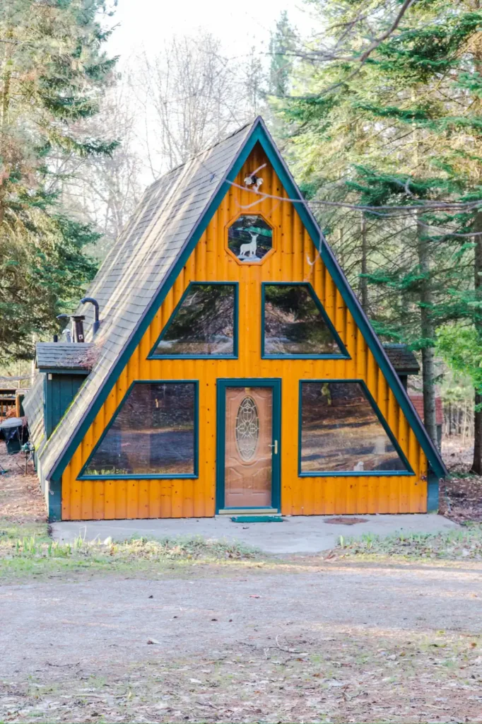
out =
[[(267, 163), (255, 146), (237, 183)], [(287, 198), (274, 169), (261, 172), (263, 191)], [(179, 518), (215, 514), (216, 379), (282, 379), (282, 513), (422, 513), (426, 511), (427, 461), (381, 374), (363, 336), (335, 288), (291, 203), (232, 188), (156, 313), (126, 369), (101, 408), (62, 476), (62, 518)], [(248, 208), (274, 226), (275, 253), (258, 266), (239, 264), (225, 249), (227, 224)], [(313, 263), (314, 262), (314, 263)], [(239, 359), (147, 360), (161, 329), (191, 281), (240, 282)], [(261, 282), (310, 282), (352, 357), (351, 360), (261, 359)], [(415, 476), (303, 477), (297, 475), (298, 385), (300, 379), (365, 380), (389, 421)], [(111, 420), (127, 387), (136, 379), (199, 380), (199, 477), (195, 480), (78, 481), (77, 476)]]

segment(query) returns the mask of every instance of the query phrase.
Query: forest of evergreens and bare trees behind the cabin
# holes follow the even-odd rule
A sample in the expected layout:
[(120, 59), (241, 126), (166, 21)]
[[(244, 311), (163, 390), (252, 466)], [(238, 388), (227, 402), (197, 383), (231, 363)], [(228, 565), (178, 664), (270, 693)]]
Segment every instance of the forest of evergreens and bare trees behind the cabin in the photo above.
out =
[(233, 58), (111, 56), (115, 2), (0, 5), (0, 365), (59, 332), (161, 173), (258, 114), (381, 339), (470, 399), (482, 474), (482, 0), (305, 0)]

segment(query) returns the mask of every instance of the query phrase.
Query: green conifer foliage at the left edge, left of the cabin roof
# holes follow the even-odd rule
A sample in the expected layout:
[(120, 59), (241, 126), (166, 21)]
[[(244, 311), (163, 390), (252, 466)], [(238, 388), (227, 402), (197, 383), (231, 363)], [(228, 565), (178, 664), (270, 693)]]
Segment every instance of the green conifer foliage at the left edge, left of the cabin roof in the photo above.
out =
[[(116, 59), (103, 52), (101, 0), (0, 3), (0, 362), (29, 358), (96, 272), (97, 235), (59, 207), (52, 157), (109, 154), (91, 138)], [(59, 168), (59, 164), (56, 164)]]

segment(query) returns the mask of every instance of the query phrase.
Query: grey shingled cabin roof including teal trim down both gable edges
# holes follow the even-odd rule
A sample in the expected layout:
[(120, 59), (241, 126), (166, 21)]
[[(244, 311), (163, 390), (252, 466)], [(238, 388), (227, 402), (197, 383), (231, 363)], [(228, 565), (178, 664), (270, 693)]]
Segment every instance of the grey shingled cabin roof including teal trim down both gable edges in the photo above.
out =
[[(151, 185), (101, 266), (88, 292), (88, 296), (96, 298), (101, 307), (101, 327), (94, 340), (98, 358), (78, 392), (75, 404), (69, 408), (63, 424), (54, 431), (42, 452), (43, 471), (48, 479), (59, 481), (256, 143), (261, 144), (289, 199), (295, 204), (301, 222), (413, 427), (432, 469), (438, 476), (446, 473), (439, 452), (410, 403), (379, 338), (263, 120), (258, 117)], [(91, 309), (83, 309), (90, 323), (93, 321), (92, 312)]]

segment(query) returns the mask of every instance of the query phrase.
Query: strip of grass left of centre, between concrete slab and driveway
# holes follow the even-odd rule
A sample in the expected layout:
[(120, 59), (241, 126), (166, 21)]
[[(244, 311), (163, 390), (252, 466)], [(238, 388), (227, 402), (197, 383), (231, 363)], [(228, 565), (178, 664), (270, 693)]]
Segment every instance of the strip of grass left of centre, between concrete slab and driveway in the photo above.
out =
[(62, 572), (104, 571), (142, 574), (161, 573), (202, 563), (235, 563), (258, 560), (253, 547), (228, 540), (202, 536), (171, 537), (156, 540), (132, 538), (124, 542), (52, 541), (39, 530), (15, 538), (0, 536), (0, 578), (54, 575)]

